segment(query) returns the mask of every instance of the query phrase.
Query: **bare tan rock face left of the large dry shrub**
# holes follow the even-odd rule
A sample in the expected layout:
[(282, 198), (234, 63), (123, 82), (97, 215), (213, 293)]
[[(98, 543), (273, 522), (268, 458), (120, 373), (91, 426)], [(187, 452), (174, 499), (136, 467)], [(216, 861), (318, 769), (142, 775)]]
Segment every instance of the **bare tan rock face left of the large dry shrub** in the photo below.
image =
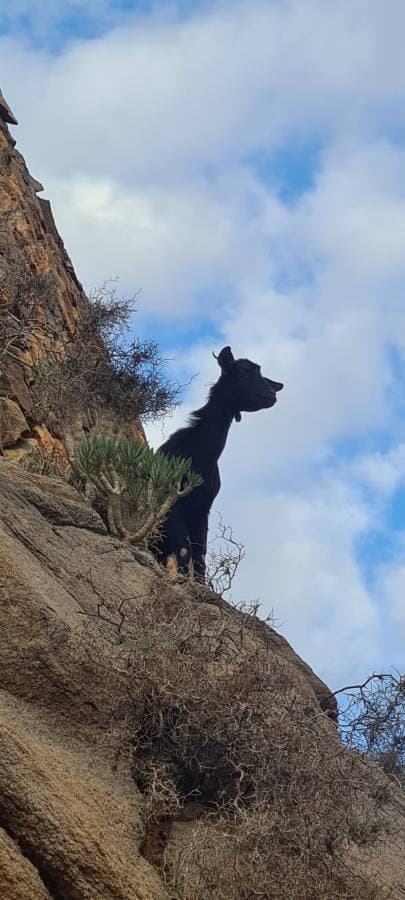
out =
[(112, 737), (130, 706), (123, 679), (107, 685), (102, 663), (93, 681), (69, 638), (91, 601), (85, 544), (117, 551), (73, 489), (3, 466), (0, 617), (13, 635), (1, 666), (0, 896), (158, 900), (161, 880), (139, 853), (142, 798)]

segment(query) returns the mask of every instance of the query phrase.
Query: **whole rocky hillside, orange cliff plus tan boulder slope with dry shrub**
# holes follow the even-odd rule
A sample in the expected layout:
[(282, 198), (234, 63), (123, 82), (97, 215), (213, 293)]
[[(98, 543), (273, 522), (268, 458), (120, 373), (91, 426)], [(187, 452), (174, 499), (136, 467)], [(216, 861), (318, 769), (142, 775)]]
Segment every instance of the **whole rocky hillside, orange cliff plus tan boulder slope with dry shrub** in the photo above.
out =
[(401, 900), (404, 794), (343, 751), (328, 687), (269, 625), (139, 565), (74, 487), (17, 464), (62, 453), (32, 421), (30, 367), (63, 352), (86, 298), (10, 115), (0, 99), (3, 296), (27, 261), (30, 291), (47, 273), (57, 290), (1, 371), (0, 896)]

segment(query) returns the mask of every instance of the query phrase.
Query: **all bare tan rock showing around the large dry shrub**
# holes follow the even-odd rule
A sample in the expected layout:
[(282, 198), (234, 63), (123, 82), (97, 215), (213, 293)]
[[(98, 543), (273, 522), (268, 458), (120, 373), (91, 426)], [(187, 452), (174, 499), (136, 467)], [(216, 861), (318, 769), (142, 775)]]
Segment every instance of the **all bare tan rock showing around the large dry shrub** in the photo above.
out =
[[(63, 480), (0, 460), (0, 896), (58, 900), (160, 900), (170, 895), (152, 865), (144, 800), (130, 774), (126, 732), (133, 715), (120, 644), (100, 602), (129, 598), (137, 615), (153, 575), (113, 540), (98, 515)], [(182, 590), (173, 588), (173, 590)], [(225, 654), (241, 652), (237, 611), (196, 604), (205, 639), (222, 635)], [(108, 611), (107, 611), (108, 612)], [(81, 632), (96, 617), (92, 653)], [(197, 612), (196, 612), (197, 625)], [(189, 626), (194, 627), (192, 620)], [(98, 653), (94, 642), (100, 637)], [(263, 623), (251, 641), (270, 647), (309, 703), (326, 686), (288, 643)], [(336, 741), (323, 717), (320, 740)], [(395, 835), (376, 864), (405, 897), (405, 801), (389, 810)], [(170, 851), (193, 823), (171, 827)], [(378, 856), (380, 852), (380, 856)], [(145, 855), (143, 855), (145, 853)], [(231, 900), (231, 898), (229, 898)]]

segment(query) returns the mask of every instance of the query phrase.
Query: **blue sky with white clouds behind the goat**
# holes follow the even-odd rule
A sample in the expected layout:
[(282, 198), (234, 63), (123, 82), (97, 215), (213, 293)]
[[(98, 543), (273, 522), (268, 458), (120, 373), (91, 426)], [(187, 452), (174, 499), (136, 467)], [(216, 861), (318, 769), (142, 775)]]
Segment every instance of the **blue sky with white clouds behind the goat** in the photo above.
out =
[(213, 348), (285, 382), (233, 425), (216, 509), (234, 598), (333, 687), (405, 665), (404, 33), (403, 0), (0, 0), (13, 134), (79, 277), (141, 288), (137, 333), (196, 375), (164, 434)]

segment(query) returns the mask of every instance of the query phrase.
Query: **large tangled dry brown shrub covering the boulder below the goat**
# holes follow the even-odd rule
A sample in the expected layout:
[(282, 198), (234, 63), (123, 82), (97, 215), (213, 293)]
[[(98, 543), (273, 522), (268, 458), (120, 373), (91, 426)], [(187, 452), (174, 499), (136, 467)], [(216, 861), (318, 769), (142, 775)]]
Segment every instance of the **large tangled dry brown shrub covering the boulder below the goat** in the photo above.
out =
[(105, 605), (99, 613), (128, 679), (149, 821), (194, 811), (187, 839), (165, 852), (170, 896), (386, 896), (353, 874), (351, 848), (365, 859), (382, 838), (390, 785), (341, 745), (247, 616), (168, 590), (164, 577), (135, 606), (121, 602), (118, 618)]

